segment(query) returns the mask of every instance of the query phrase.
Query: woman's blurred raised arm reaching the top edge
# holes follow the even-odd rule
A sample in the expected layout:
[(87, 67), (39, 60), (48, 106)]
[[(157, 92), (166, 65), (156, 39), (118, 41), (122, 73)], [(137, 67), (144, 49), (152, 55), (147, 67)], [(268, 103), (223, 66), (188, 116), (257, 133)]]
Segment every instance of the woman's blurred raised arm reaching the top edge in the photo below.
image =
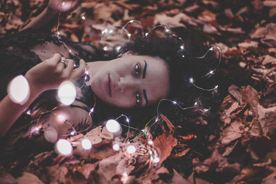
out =
[(43, 10), (39, 16), (30, 21), (30, 23), (28, 23), (22, 30), (25, 30), (26, 28), (51, 29), (52, 25), (57, 23), (59, 12), (70, 13), (75, 10), (80, 3), (81, 0), (50, 0), (45, 10)]

